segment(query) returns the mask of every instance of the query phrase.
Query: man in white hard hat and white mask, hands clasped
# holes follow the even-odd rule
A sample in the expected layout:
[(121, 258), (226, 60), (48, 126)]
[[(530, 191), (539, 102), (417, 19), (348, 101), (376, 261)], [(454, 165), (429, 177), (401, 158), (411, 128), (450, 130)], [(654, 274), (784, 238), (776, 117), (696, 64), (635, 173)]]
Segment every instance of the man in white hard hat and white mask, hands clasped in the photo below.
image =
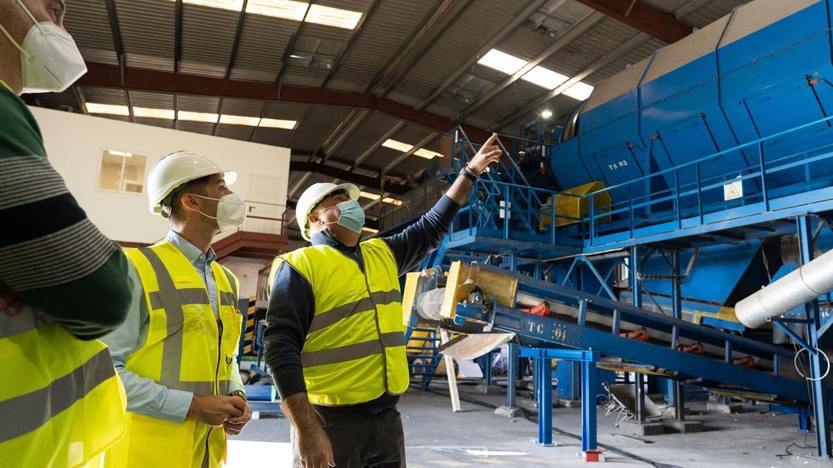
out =
[(216, 261), (217, 233), (242, 226), (237, 173), (195, 152), (173, 152), (147, 177), (150, 211), (171, 230), (125, 251), (141, 284), (127, 321), (105, 336), (127, 391), (130, 428), (107, 466), (220, 466), (226, 436), (250, 411), (237, 368), (239, 283)]

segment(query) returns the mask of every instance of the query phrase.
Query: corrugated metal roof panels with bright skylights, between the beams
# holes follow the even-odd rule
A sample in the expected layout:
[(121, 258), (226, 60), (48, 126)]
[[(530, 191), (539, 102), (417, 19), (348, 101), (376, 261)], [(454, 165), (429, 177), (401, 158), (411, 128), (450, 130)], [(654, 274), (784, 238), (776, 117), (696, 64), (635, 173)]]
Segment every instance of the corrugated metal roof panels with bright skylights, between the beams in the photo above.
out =
[[(362, 29), (352, 31), (338, 27), (328, 27), (312, 23), (301, 23), (275, 17), (246, 14), (242, 27), (237, 57), (233, 63), (231, 77), (238, 80), (275, 82), (282, 69), (282, 57), (289, 53), (315, 54), (323, 59), (320, 67), (308, 67), (302, 61), (292, 61), (283, 68), (281, 81), (286, 84), (299, 84), (320, 87), (323, 79), (331, 72), (327, 62), (343, 60), (332, 72), (332, 79), (327, 87), (355, 92), (367, 90), (374, 77), (382, 71), (403, 47), (407, 37), (412, 36), (426, 17), (439, 5), (439, 0), (376, 0), (377, 7), (363, 23)], [(689, 0), (641, 0), (663, 12), (673, 12), (690, 4)], [(317, 4), (346, 8), (367, 15), (374, 0), (317, 0)], [(742, 0), (711, 0), (694, 12), (681, 17), (680, 21), (691, 26), (701, 27), (731, 12), (733, 7), (743, 3)], [(127, 53), (128, 67), (145, 67), (162, 71), (173, 70), (174, 56), (174, 9), (175, 2), (170, 0), (115, 0), (117, 20)], [(526, 6), (526, 0), (471, 0), (466, 8), (458, 14), (446, 30), (438, 32), (431, 47), (427, 47), (420, 57), (412, 63), (406, 63), (408, 72), (387, 94), (388, 99), (416, 106), (425, 99), (451, 73), (456, 72), (472, 56), (480, 51), (486, 42), (496, 33), (504, 32), (503, 27), (516, 17), (516, 12)], [(553, 10), (553, 7), (558, 7)], [(496, 48), (511, 53), (516, 57), (531, 59), (549, 47), (554, 41), (553, 35), (590, 11), (588, 7), (568, 0), (546, 2), (534, 13), (529, 21), (506, 33)], [(237, 30), (240, 12), (227, 11), (211, 7), (186, 4), (183, 7), (182, 29), (182, 63), (181, 72), (209, 77), (224, 77), (232, 56), (232, 46)], [(67, 27), (76, 38), (84, 57), (91, 62), (116, 63), (107, 8), (100, 0), (73, 0), (67, 12)], [(611, 18), (602, 20), (596, 27), (581, 35), (576, 41), (563, 47), (561, 51), (547, 57), (541, 66), (574, 76), (577, 72), (598, 61), (622, 43), (636, 35), (636, 30)], [(296, 34), (294, 50), (287, 51), (293, 34)], [(348, 42), (352, 47), (347, 49)], [(634, 50), (622, 55), (616, 61), (597, 69), (583, 79), (591, 85), (611, 77), (616, 72), (648, 57), (662, 42), (650, 39)], [(475, 65), (456, 79), (445, 92), (441, 93), (426, 107), (442, 117), (452, 118), (476, 102), (479, 95), (488, 92), (496, 83), (507, 77), (489, 67)], [(81, 91), (87, 102), (126, 105), (125, 92), (119, 89), (102, 87), (82, 87)], [(496, 97), (491, 98), (481, 108), (466, 118), (466, 122), (487, 128), (496, 122), (517, 112), (517, 109), (545, 96), (547, 90), (530, 82), (518, 80)], [(132, 103), (136, 107), (170, 109), (173, 107), (172, 94), (153, 92), (131, 92)], [(72, 91), (37, 97), (38, 102), (47, 107), (62, 105), (77, 106)], [(265, 102), (247, 99), (224, 99), (222, 109), (220, 99), (210, 96), (181, 95), (178, 99), (180, 110), (192, 112), (222, 112), (227, 115), (247, 117), (267, 117), (297, 120), (297, 128), (292, 130), (255, 128), (221, 124), (217, 126), (217, 135), (252, 140), (270, 145), (289, 146), (298, 151), (312, 152), (321, 147), (339, 122), (347, 117), (350, 109), (341, 107), (322, 107), (287, 102)], [(558, 96), (545, 106), (553, 114), (553, 123), (562, 118), (576, 105), (571, 97)], [(501, 132), (516, 134), (521, 123), (535, 119), (537, 110), (516, 119)], [(127, 117), (112, 116), (118, 120)], [(137, 122), (158, 127), (172, 127), (172, 121), (139, 118)], [(380, 137), (396, 126), (398, 121), (387, 115), (372, 112), (352, 133), (334, 157), (351, 161), (367, 151), (368, 147), (378, 142)], [(178, 128), (188, 132), (212, 134), (215, 125), (205, 122), (178, 122)], [(430, 131), (417, 125), (406, 125), (394, 135), (394, 139), (408, 144), (416, 144)], [(426, 146), (432, 151), (439, 150), (437, 141)], [(379, 147), (362, 166), (383, 168), (401, 156), (386, 147)], [(332, 162), (334, 166), (338, 166)], [(405, 174), (418, 172), (429, 164), (420, 157), (409, 157), (400, 163), (393, 172)], [(332, 177), (312, 177), (310, 183), (329, 181)]]

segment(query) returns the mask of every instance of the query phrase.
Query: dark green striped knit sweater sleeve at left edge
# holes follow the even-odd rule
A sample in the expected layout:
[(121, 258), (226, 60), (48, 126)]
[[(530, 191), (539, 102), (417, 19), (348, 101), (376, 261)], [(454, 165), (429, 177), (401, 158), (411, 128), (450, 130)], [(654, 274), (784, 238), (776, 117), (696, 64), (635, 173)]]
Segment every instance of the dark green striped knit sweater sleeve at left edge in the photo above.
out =
[(124, 254), (87, 219), (47, 160), (32, 112), (2, 82), (0, 220), (0, 281), (29, 306), (84, 340), (124, 321)]

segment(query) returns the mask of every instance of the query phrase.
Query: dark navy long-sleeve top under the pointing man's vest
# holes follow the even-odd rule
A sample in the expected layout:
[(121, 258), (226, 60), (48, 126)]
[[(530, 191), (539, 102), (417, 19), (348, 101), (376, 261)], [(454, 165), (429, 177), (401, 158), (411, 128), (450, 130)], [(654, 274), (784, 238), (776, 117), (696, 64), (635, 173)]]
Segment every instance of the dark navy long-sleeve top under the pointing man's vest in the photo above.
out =
[[(436, 247), (440, 246), (443, 236), (448, 233), (451, 222), (460, 211), (449, 197), (442, 197), (431, 211), (407, 227), (405, 231), (393, 236), (382, 237), (391, 247), (397, 260), (399, 275), (411, 271)], [(344, 245), (324, 230), (312, 236), (312, 245), (326, 245), (337, 248), (347, 256), (355, 259), (364, 270), (362, 251), (358, 246)], [(267, 309), (266, 330), (263, 342), (266, 346), (264, 358), (272, 371), (272, 378), (281, 398), (307, 391), (304, 372), (301, 366), (301, 350), (307, 339), (307, 331), (315, 314), (315, 297), (307, 278), (283, 263), (277, 270), (272, 282)], [(353, 406), (354, 409), (377, 410), (394, 406), (399, 396), (385, 394), (374, 401)]]

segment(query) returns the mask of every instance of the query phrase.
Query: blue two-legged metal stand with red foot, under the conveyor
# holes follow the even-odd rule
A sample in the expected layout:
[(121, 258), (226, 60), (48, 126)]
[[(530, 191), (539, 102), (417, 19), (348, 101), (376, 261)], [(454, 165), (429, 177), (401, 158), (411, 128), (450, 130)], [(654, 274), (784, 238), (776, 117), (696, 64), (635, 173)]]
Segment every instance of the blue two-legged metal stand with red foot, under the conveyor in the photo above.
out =
[(552, 446), (552, 360), (581, 362), (581, 451), (596, 446), (596, 351), (521, 348), (521, 356), (535, 360), (538, 395), (538, 443)]

